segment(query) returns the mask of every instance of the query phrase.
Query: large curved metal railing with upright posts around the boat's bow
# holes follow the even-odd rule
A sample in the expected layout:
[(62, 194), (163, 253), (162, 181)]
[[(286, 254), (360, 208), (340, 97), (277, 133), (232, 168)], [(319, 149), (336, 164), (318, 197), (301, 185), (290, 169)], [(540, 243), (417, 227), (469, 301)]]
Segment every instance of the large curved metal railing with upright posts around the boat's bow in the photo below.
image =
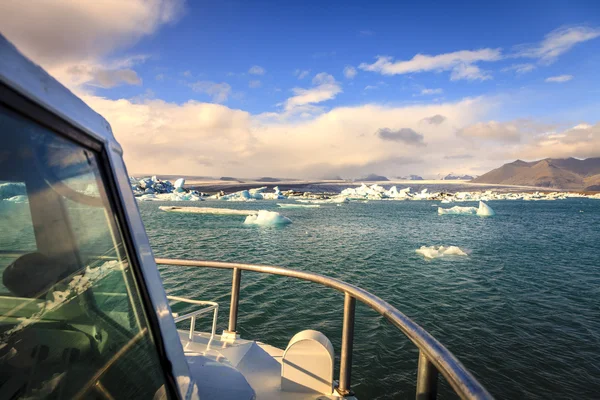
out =
[(251, 265), (227, 263), (218, 261), (178, 260), (157, 258), (157, 264), (180, 267), (205, 267), (233, 270), (231, 287), (231, 308), (229, 310), (230, 333), (237, 329), (238, 304), (240, 296), (240, 282), (242, 271), (260, 272), (272, 275), (287, 276), (319, 283), (344, 293), (344, 320), (342, 326), (342, 347), (340, 355), (340, 376), (337, 391), (342, 396), (348, 396), (350, 391), (350, 377), (352, 368), (352, 347), (354, 342), (354, 315), (356, 300), (366, 304), (384, 316), (396, 326), (419, 349), (419, 364), (417, 372), (417, 400), (434, 399), (437, 396), (437, 377), (441, 373), (452, 389), (463, 399), (492, 399), (487, 390), (471, 375), (469, 371), (454, 357), (448, 349), (421, 328), (406, 315), (402, 314), (389, 303), (379, 297), (335, 278), (311, 272), (296, 271), (293, 269), (271, 267), (265, 265)]

